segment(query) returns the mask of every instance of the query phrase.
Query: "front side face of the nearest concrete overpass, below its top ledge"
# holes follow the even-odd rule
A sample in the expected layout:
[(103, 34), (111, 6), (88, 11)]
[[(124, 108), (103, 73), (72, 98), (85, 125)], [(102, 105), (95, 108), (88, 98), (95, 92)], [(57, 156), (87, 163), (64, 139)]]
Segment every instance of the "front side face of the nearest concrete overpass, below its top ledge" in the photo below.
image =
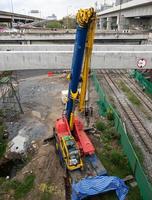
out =
[[(70, 69), (73, 51), (1, 51), (0, 71), (23, 69)], [(93, 69), (135, 69), (145, 59), (152, 69), (152, 51), (93, 51)]]

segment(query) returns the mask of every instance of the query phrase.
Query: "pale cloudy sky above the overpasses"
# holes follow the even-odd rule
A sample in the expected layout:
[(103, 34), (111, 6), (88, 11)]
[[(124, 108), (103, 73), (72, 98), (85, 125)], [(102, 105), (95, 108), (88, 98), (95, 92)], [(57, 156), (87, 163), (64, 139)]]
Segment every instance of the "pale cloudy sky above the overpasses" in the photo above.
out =
[[(115, 0), (0, 0), (0, 10), (12, 11), (21, 14), (29, 14), (31, 10), (39, 10), (39, 14), (35, 14), (37, 17), (47, 17), (53, 13), (58, 19), (63, 16), (75, 14), (80, 8), (94, 7), (95, 2), (112, 3)], [(12, 4), (11, 4), (12, 2)]]

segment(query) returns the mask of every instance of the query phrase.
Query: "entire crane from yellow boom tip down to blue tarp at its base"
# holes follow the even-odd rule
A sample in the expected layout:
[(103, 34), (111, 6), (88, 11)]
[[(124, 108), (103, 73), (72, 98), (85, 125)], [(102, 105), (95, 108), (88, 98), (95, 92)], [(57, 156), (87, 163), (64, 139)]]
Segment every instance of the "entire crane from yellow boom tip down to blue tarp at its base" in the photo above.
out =
[[(101, 185), (105, 186), (103, 183), (107, 183), (106, 181), (109, 181), (109, 183), (112, 181), (112, 184), (115, 185), (112, 188), (109, 186), (106, 191), (118, 189), (119, 194), (126, 194), (128, 190), (119, 178), (113, 179), (107, 176), (106, 169), (96, 156), (95, 147), (84, 131), (82, 120), (75, 114), (77, 107), (80, 112), (85, 109), (85, 96), (96, 27), (96, 12), (93, 8), (80, 9), (76, 19), (78, 26), (69, 75), (70, 83), (66, 109), (62, 117), (56, 120), (54, 127), (56, 150), (61, 165), (68, 172), (72, 186), (72, 200), (103, 192)], [(91, 193), (90, 187), (93, 189)], [(124, 189), (123, 192), (121, 191), (122, 188)]]

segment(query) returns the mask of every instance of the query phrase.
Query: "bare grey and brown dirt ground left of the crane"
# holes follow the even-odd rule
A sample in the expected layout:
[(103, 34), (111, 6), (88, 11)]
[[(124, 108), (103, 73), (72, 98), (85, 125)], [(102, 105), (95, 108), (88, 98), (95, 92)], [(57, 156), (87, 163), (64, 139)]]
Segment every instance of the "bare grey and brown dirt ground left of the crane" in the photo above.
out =
[(54, 122), (62, 115), (64, 106), (61, 102), (61, 91), (67, 88), (68, 82), (64, 74), (23, 77), (19, 81), (24, 114), (19, 121), (9, 124), (8, 128), (10, 138), (24, 129), (22, 135), (26, 134), (28, 144), (33, 140), (36, 144), (36, 153), (31, 161), (16, 175), (19, 180), (30, 173), (36, 177), (35, 187), (25, 198), (27, 200), (41, 199), (44, 191), (49, 191), (53, 200), (65, 199), (64, 171), (55, 153), (54, 144), (43, 144), (43, 140), (52, 135)]

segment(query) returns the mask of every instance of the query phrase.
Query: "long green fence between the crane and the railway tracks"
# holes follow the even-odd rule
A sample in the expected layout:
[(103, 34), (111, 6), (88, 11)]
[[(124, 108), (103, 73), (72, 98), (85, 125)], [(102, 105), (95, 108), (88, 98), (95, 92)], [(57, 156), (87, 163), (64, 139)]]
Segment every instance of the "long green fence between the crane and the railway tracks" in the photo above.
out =
[(99, 105), (99, 113), (100, 113), (100, 115), (105, 116), (109, 109), (111, 109), (113, 111), (115, 128), (117, 129), (118, 133), (121, 136), (120, 138), (121, 138), (122, 148), (124, 150), (124, 153), (128, 157), (130, 166), (132, 168), (132, 171), (134, 173), (134, 176), (135, 176), (138, 186), (140, 188), (142, 198), (143, 198), (143, 200), (151, 200), (152, 199), (152, 185), (148, 181), (148, 179), (144, 173), (144, 170), (139, 162), (139, 159), (135, 153), (135, 150), (134, 150), (132, 144), (130, 143), (130, 140), (128, 138), (128, 134), (125, 130), (123, 122), (122, 122), (121, 118), (119, 117), (119, 114), (112, 107), (112, 105), (108, 102), (106, 95), (105, 95), (103, 89), (101, 88), (95, 73), (92, 75), (92, 79), (94, 82), (95, 89), (99, 95), (99, 100), (97, 102)]

